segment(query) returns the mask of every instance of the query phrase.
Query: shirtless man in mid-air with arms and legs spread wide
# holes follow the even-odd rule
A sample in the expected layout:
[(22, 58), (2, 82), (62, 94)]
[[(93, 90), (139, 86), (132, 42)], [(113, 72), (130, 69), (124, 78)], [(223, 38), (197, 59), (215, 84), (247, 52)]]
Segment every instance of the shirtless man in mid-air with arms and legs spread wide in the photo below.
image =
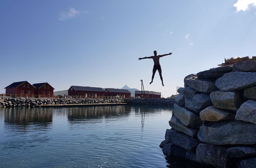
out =
[(154, 56), (139, 58), (139, 60), (142, 60), (142, 59), (153, 59), (153, 61), (154, 61), (153, 74), (152, 74), (152, 79), (151, 79), (150, 84), (153, 82), (155, 73), (158, 70), (159, 76), (160, 76), (160, 79), (162, 80), (162, 85), (163, 85), (162, 69), (161, 69), (161, 66), (160, 66), (159, 59), (160, 59), (160, 57), (164, 57), (164, 56), (170, 55), (170, 54), (172, 54), (172, 53), (170, 52), (170, 53), (163, 54), (163, 55), (157, 55), (157, 51), (155, 50), (154, 51)]

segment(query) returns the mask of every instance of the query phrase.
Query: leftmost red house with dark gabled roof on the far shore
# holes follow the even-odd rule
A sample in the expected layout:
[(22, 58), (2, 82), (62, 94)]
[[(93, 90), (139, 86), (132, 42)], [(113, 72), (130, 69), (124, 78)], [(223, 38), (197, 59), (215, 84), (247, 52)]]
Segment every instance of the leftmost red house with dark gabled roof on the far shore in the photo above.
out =
[(33, 87), (28, 81), (18, 81), (13, 82), (8, 87), (5, 87), (6, 94), (24, 94), (24, 95), (33, 95), (35, 87)]

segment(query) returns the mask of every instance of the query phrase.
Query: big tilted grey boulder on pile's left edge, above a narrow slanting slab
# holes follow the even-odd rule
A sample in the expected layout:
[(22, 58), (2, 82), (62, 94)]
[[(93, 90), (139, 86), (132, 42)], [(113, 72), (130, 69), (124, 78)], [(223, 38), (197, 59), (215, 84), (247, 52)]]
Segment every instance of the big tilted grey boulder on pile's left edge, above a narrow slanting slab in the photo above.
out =
[(174, 104), (173, 114), (187, 127), (199, 128), (202, 125), (202, 122), (197, 115), (178, 104)]

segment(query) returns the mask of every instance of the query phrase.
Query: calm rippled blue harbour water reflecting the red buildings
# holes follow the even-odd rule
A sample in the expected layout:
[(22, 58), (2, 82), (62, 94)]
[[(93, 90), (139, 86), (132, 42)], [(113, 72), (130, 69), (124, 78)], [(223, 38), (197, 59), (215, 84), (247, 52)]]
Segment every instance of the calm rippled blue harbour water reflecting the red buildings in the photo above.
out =
[(170, 108), (0, 108), (0, 167), (176, 167), (158, 147)]

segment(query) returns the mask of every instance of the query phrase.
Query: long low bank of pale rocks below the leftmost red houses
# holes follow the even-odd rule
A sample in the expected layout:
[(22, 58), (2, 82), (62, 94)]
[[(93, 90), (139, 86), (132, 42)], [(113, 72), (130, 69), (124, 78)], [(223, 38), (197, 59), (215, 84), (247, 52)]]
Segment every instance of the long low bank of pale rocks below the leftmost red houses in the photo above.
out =
[(36, 105), (53, 104), (97, 104), (97, 103), (122, 103), (123, 99), (25, 99), (5, 98), (0, 101), (0, 107), (34, 107)]

